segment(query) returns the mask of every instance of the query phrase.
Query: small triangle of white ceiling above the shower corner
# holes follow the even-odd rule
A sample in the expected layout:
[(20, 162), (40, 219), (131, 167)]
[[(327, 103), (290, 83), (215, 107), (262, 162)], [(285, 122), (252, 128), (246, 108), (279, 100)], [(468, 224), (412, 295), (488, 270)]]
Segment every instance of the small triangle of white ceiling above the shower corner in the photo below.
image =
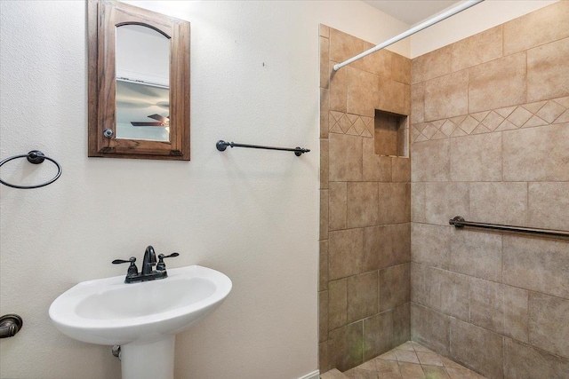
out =
[(429, 19), (438, 12), (461, 3), (456, 0), (364, 0), (364, 2), (409, 25)]

